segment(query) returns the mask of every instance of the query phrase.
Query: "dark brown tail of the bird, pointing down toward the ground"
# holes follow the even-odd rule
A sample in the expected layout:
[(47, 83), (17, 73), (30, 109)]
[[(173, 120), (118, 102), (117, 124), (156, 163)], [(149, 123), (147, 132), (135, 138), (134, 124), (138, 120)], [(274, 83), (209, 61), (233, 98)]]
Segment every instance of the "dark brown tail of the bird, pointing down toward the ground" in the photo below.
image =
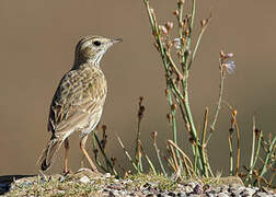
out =
[(61, 147), (64, 140), (57, 137), (51, 137), (49, 142), (47, 143), (46, 149), (43, 150), (42, 155), (39, 157), (37, 163), (41, 163), (41, 169), (46, 171), (50, 167), (54, 159), (56, 158), (56, 153)]

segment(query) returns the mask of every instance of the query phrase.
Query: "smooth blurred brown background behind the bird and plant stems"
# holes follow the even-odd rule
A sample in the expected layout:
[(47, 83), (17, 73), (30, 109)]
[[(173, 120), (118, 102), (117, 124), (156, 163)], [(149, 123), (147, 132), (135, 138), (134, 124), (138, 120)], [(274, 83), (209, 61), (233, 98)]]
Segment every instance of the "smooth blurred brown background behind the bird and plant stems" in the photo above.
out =
[[(175, 3), (176, 0), (151, 0), (160, 23), (175, 22)], [(274, 0), (197, 2), (196, 25), (210, 10), (214, 18), (191, 72), (194, 119), (197, 126), (202, 125), (206, 105), (214, 114), (219, 51), (234, 53), (237, 70), (227, 78), (225, 99), (238, 108), (245, 150), (242, 161), (249, 158), (253, 115), (266, 135), (275, 134), (275, 8)], [(51, 96), (62, 74), (71, 68), (76, 43), (87, 34), (124, 39), (102, 61), (110, 91), (102, 118), (107, 125), (110, 155), (128, 165), (115, 134), (133, 152), (140, 95), (146, 97), (147, 107), (141, 126), (146, 151), (152, 152), (151, 131), (158, 131), (159, 143), (172, 138), (165, 117), (169, 107), (163, 95), (162, 65), (152, 47), (141, 0), (1, 0), (0, 24), (0, 175), (37, 173), (36, 160), (49, 139), (46, 125)], [(229, 114), (223, 107), (218, 131), (209, 144), (209, 151), (217, 151), (210, 162), (222, 171), (229, 161), (228, 128)], [(186, 134), (180, 131), (180, 136), (186, 144)], [(70, 143), (69, 165), (78, 170), (81, 154), (77, 134)], [(91, 144), (88, 148), (92, 154)], [(64, 150), (50, 172), (61, 171), (62, 153)], [(149, 154), (156, 160), (154, 154)]]

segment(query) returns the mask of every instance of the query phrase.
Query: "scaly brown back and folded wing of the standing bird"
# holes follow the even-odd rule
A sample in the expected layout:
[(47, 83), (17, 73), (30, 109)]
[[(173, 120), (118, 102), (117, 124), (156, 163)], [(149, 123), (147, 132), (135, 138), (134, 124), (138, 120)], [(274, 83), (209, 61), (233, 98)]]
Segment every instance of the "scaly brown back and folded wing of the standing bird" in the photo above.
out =
[(106, 81), (99, 68), (69, 71), (53, 97), (48, 130), (61, 135), (78, 128), (91, 114), (102, 111), (105, 96)]

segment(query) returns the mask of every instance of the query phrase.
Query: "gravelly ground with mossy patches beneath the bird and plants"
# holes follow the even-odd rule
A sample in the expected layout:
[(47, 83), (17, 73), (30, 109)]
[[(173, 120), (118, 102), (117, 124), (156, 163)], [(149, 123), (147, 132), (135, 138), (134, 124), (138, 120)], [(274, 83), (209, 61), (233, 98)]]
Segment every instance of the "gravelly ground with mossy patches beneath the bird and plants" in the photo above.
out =
[[(227, 183), (229, 184), (227, 184)], [(95, 175), (89, 170), (62, 175), (24, 177), (12, 183), (0, 179), (3, 196), (139, 196), (139, 197), (276, 197), (276, 192), (264, 187), (245, 187), (237, 177), (219, 182), (173, 182), (162, 176), (142, 175), (117, 179), (111, 174)]]

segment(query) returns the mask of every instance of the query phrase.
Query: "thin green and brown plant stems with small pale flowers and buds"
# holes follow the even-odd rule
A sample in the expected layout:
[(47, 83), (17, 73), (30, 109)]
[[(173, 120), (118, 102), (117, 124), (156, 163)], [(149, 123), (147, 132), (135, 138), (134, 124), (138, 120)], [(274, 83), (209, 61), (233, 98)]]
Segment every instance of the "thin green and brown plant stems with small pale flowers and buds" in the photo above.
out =
[[(228, 138), (230, 154), (229, 175), (242, 177), (248, 185), (264, 184), (269, 187), (275, 187), (275, 185), (273, 185), (273, 181), (276, 174), (276, 136), (269, 136), (269, 139), (265, 140), (263, 137), (263, 131), (256, 128), (255, 120), (253, 120), (251, 160), (248, 166), (243, 165), (245, 172), (241, 172), (240, 129), (237, 121), (237, 109), (222, 100), (226, 76), (233, 73), (235, 68), (234, 61), (232, 60), (233, 54), (225, 53), (222, 50), (219, 54), (220, 83), (215, 117), (210, 120), (209, 109), (206, 107), (202, 130), (195, 127), (193, 113), (189, 105), (189, 71), (196, 58), (202, 37), (211, 20), (211, 14), (207, 19), (200, 21), (200, 31), (196, 40), (194, 42), (196, 0), (177, 0), (176, 10), (173, 11), (173, 15), (176, 18), (176, 25), (170, 21), (165, 22), (163, 25), (160, 25), (158, 23), (154, 10), (150, 7), (149, 0), (142, 0), (142, 2), (149, 16), (149, 23), (153, 37), (153, 46), (160, 55), (165, 73), (164, 92), (170, 108), (168, 119), (171, 125), (172, 140), (169, 139), (166, 141), (169, 155), (162, 157), (160, 149), (158, 148), (157, 132), (151, 134), (153, 140), (152, 146), (156, 150), (159, 161), (159, 163), (154, 165), (143, 151), (140, 140), (140, 123), (146, 109), (142, 104), (143, 97), (140, 97), (138, 107), (138, 129), (136, 134), (136, 153), (134, 159), (125, 148), (122, 139), (117, 137), (118, 142), (129, 162), (134, 166), (135, 172), (143, 173), (146, 171), (142, 164), (142, 157), (145, 157), (150, 170), (154, 174), (161, 173), (164, 176), (172, 175), (175, 179), (183, 177), (215, 177), (208, 161), (207, 146), (211, 135), (216, 131), (216, 123), (221, 105), (226, 104), (230, 109), (231, 118)], [(186, 7), (186, 10), (188, 11), (187, 13), (184, 13), (184, 8)], [(173, 28), (176, 28), (176, 35), (173, 35)], [(183, 121), (182, 124), (176, 124), (177, 113), (181, 114)], [(177, 128), (176, 125), (181, 126), (182, 128)], [(95, 139), (99, 143), (101, 152), (105, 158), (106, 167), (103, 167), (103, 165), (99, 162), (97, 164), (104, 171), (112, 172), (113, 174), (117, 175), (116, 171), (114, 170), (115, 160), (112, 159), (110, 161), (104, 152), (104, 147), (106, 143), (105, 129), (102, 141), (99, 140), (96, 135)], [(186, 129), (188, 134), (188, 141), (191, 142), (193, 150), (192, 155), (188, 155), (179, 147), (177, 131), (184, 129)], [(261, 151), (263, 151), (263, 154), (260, 153)], [(264, 155), (263, 159), (261, 155)], [(96, 161), (99, 161), (97, 157)], [(160, 167), (158, 167), (158, 165)], [(161, 171), (158, 172), (157, 169), (160, 169)]]

